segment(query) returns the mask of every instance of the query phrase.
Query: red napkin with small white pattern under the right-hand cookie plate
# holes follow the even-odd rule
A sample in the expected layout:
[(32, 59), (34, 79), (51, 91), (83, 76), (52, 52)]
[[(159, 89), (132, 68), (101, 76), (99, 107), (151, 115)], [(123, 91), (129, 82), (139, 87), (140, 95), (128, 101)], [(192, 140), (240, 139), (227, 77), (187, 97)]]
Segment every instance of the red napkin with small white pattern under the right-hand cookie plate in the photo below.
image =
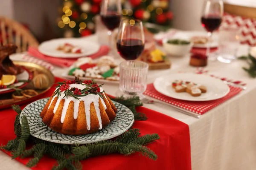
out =
[(150, 97), (153, 97), (155, 99), (161, 100), (163, 102), (166, 102), (170, 105), (175, 105), (179, 108), (183, 108), (197, 114), (204, 114), (210, 111), (211, 109), (215, 108), (216, 106), (220, 105), (221, 103), (225, 102), (226, 100), (230, 99), (231, 97), (239, 94), (240, 91), (242, 91), (242, 89), (238, 87), (233, 87), (233, 86), (229, 86), (229, 87), (230, 87), (230, 92), (227, 94), (227, 96), (221, 99), (204, 101), (204, 102), (185, 101), (185, 100), (174, 99), (172, 97), (165, 96), (163, 94), (160, 94), (158, 91), (156, 91), (153, 83), (147, 85), (147, 89), (144, 92), (144, 94)]

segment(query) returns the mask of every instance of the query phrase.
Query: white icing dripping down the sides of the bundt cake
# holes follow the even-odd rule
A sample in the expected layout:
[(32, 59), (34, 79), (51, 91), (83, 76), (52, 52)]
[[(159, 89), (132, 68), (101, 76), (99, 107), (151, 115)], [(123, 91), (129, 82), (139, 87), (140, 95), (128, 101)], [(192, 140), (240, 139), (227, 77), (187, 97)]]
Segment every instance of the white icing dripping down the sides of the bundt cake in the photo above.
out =
[[(73, 88), (73, 87), (79, 88), (81, 90), (86, 88), (85, 85), (71, 84), (69, 89)], [(103, 91), (102, 88), (100, 88), (100, 90), (101, 90), (101, 92)], [(106, 98), (104, 93), (103, 93), (103, 96)], [(70, 102), (71, 101), (74, 102), (74, 119), (77, 119), (78, 118), (78, 112), (79, 112), (79, 104), (80, 104), (81, 101), (83, 101), (84, 102), (84, 108), (85, 108), (87, 130), (90, 130), (90, 104), (93, 102), (95, 110), (96, 110), (96, 115), (97, 115), (97, 118), (99, 120), (99, 129), (102, 129), (102, 119), (101, 119), (100, 110), (99, 110), (99, 99), (101, 100), (102, 105), (103, 105), (105, 110), (107, 109), (107, 106), (104, 102), (104, 99), (102, 99), (98, 94), (97, 95), (96, 94), (88, 94), (87, 96), (81, 96), (81, 97), (79, 97), (79, 100), (78, 100), (78, 99), (75, 99), (71, 96), (65, 96), (64, 91), (63, 91), (63, 92), (61, 92), (61, 95), (59, 97), (56, 95), (52, 98), (48, 109), (52, 105), (52, 102), (55, 98), (58, 98), (58, 99), (57, 99), (57, 102), (56, 102), (55, 107), (53, 109), (54, 114), (57, 111), (57, 108), (58, 108), (58, 105), (61, 102), (61, 99), (62, 98), (65, 99), (64, 106), (63, 106), (63, 109), (62, 109), (62, 112), (61, 112), (61, 123), (64, 123), (66, 113), (67, 113), (67, 108), (68, 108)], [(107, 99), (107, 101), (108, 101), (108, 99)]]

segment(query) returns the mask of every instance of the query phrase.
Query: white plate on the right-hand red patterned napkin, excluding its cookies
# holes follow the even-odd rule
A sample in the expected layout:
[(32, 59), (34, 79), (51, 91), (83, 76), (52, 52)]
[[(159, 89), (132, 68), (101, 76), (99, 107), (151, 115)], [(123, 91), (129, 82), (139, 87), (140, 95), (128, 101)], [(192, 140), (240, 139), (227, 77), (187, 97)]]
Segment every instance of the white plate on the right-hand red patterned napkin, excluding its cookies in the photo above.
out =
[[(186, 92), (176, 93), (174, 88), (172, 88), (172, 82), (174, 82), (175, 80), (190, 81), (197, 84), (205, 85), (207, 87), (207, 92), (197, 97), (191, 96)], [(202, 74), (192, 73), (177, 73), (159, 77), (154, 81), (154, 88), (159, 93), (166, 96), (187, 101), (209, 101), (220, 99), (226, 96), (230, 91), (228, 85), (226, 85), (220, 79), (216, 79)]]

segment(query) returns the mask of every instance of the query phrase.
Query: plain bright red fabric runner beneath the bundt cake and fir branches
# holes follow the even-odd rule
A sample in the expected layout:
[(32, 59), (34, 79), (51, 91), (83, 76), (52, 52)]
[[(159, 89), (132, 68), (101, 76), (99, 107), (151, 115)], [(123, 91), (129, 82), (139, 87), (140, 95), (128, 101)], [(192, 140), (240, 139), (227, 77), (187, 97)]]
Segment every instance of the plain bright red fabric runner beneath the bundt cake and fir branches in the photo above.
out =
[[(63, 79), (56, 78), (56, 82)], [(49, 97), (54, 87), (51, 88), (41, 98)], [(22, 105), (21, 108), (24, 108)], [(172, 117), (150, 109), (140, 107), (138, 111), (147, 115), (146, 121), (135, 121), (134, 128), (139, 128), (142, 135), (158, 133), (160, 139), (148, 147), (153, 150), (157, 156), (157, 161), (153, 161), (139, 153), (131, 156), (120, 154), (110, 154), (98, 156), (81, 161), (83, 169), (87, 170), (191, 170), (190, 158), (190, 137), (189, 126)], [(15, 139), (14, 121), (16, 113), (12, 108), (0, 111), (0, 145), (6, 144), (9, 140)], [(10, 153), (7, 153), (11, 155)], [(11, 159), (11, 158), (10, 158)], [(20, 159), (22, 164), (26, 164), (30, 158)], [(44, 156), (33, 170), (50, 170), (57, 162), (55, 159)], [(2, 165), (3, 166), (3, 165)]]

